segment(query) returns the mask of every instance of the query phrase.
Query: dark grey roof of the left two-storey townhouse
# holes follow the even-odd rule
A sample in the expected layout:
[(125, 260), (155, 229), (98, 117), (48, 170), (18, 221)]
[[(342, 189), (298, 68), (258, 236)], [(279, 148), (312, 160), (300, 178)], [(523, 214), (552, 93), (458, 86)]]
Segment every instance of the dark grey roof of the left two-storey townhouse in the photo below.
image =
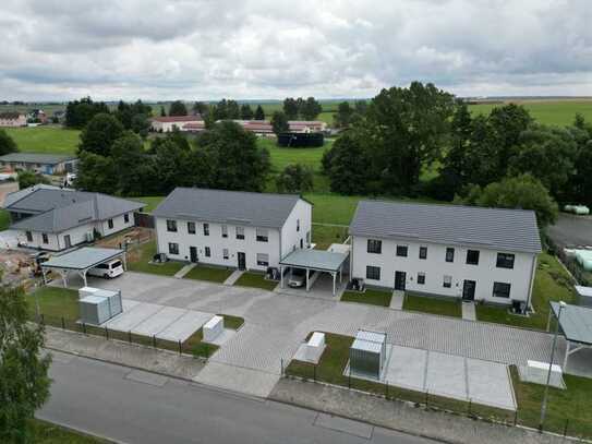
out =
[(281, 228), (299, 200), (295, 194), (176, 188), (153, 215)]

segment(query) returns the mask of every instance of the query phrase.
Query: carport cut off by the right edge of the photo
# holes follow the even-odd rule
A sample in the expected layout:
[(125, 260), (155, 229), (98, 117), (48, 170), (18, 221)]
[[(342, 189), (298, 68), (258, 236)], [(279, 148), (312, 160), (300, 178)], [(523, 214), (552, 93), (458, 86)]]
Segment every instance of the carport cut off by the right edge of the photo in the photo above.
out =
[(592, 347), (592, 309), (579, 305), (566, 304), (559, 316), (559, 303), (551, 302), (547, 329), (551, 325), (551, 317), (559, 319), (559, 327), (567, 339), (567, 349), (564, 359), (564, 371), (570, 355), (584, 348)]

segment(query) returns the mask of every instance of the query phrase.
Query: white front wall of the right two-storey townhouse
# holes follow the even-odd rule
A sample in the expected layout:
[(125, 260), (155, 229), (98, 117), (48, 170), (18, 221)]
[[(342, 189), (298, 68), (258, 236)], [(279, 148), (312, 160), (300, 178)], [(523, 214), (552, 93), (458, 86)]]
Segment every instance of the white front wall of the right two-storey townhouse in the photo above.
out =
[[(536, 254), (512, 251), (497, 251), (479, 247), (458, 244), (423, 243), (409, 240), (378, 239), (380, 253), (369, 252), (369, 238), (355, 236), (352, 238), (351, 249), (351, 277), (363, 278), (366, 285), (386, 288), (396, 287), (396, 272), (404, 273), (404, 290), (420, 293), (462, 298), (466, 280), (474, 281), (474, 300), (492, 303), (509, 304), (511, 301), (529, 301), (532, 291), (534, 271), (536, 268)], [(407, 256), (403, 253), (407, 247)], [(420, 259), (420, 247), (426, 248), (426, 257)], [(447, 262), (447, 249), (454, 249), (452, 262)], [(479, 251), (476, 265), (468, 264), (469, 250)], [(514, 267), (497, 266), (498, 253), (514, 254)], [(474, 259), (474, 253), (473, 259)], [(474, 262), (474, 261), (473, 261)], [(378, 267), (379, 278), (376, 278)], [(369, 273), (370, 272), (370, 273)], [(424, 283), (421, 284), (422, 277)], [(370, 276), (370, 277), (369, 277)], [(418, 281), (418, 277), (419, 280)], [(399, 273), (398, 289), (401, 289), (402, 275)], [(446, 281), (446, 286), (445, 286)], [(448, 286), (449, 283), (449, 286)], [(494, 296), (494, 283), (509, 284), (509, 297), (500, 297), (504, 292), (497, 291)], [(471, 283), (467, 284), (469, 288)], [(500, 287), (497, 286), (499, 290)], [(468, 288), (466, 298), (471, 299)]]

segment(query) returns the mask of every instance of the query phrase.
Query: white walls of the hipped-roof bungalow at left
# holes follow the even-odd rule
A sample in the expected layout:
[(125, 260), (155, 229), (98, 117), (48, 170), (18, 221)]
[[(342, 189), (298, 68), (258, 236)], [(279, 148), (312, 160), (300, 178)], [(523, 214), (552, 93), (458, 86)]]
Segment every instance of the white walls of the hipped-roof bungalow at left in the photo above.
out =
[(84, 224), (58, 233), (47, 232), (45, 233), (45, 238), (44, 232), (41, 231), (27, 230), (17, 230), (19, 233), (16, 236), (19, 242), (26, 243), (26, 245), (29, 248), (48, 251), (61, 251), (69, 248), (69, 245), (74, 247), (80, 243), (87, 242), (88, 233), (94, 233), (95, 229), (100, 233), (101, 237), (104, 237), (133, 227), (133, 212), (126, 214), (128, 220), (125, 220), (125, 215), (122, 214), (111, 219)]

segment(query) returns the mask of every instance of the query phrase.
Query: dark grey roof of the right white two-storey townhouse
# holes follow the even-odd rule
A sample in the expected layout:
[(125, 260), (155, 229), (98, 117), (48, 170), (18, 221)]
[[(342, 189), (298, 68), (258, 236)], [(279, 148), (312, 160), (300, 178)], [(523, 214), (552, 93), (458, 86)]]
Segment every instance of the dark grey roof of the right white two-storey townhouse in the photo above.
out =
[(349, 230), (353, 236), (541, 252), (536, 216), (524, 209), (360, 201)]

